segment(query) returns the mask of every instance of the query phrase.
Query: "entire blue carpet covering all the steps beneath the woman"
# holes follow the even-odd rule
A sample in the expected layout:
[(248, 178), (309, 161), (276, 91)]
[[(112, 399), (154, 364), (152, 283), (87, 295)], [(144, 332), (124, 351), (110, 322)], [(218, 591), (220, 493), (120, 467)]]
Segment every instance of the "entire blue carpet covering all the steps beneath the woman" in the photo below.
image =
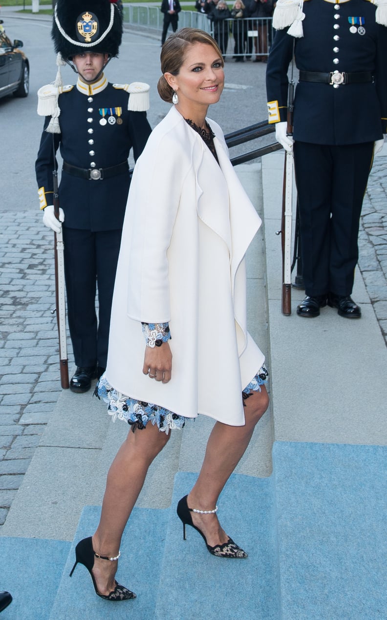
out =
[[(385, 620), (387, 448), (277, 441), (272, 476), (233, 474), (221, 493), (225, 531), (246, 560), (211, 556), (176, 505), (197, 474), (178, 472), (170, 508), (135, 508), (117, 579), (138, 598), (97, 598), (76, 542), (100, 507), (82, 511), (73, 544), (1, 538), (1, 588), (17, 620)], [(7, 615), (8, 614), (8, 615)]]

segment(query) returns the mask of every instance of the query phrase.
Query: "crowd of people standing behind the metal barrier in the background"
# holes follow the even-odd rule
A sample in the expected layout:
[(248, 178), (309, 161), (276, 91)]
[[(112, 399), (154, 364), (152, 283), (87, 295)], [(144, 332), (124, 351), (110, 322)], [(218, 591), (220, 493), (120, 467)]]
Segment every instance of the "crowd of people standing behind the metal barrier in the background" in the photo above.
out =
[(271, 17), (275, 2), (272, 0), (235, 0), (231, 9), (226, 0), (196, 0), (198, 12), (205, 13), (213, 24), (213, 37), (225, 58), (229, 35), (234, 38), (234, 60), (266, 62), (271, 38)]

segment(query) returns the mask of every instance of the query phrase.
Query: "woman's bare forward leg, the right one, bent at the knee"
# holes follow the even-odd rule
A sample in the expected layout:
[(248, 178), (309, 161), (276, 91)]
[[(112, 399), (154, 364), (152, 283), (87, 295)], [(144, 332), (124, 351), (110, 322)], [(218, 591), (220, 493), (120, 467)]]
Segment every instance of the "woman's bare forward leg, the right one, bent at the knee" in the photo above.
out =
[[(235, 467), (246, 451), (256, 423), (264, 415), (269, 406), (269, 396), (265, 386), (261, 392), (252, 392), (247, 398), (244, 415), (246, 423), (242, 427), (232, 427), (216, 422), (207, 442), (207, 449), (202, 469), (192, 488), (187, 503), (190, 508), (199, 510), (213, 510)], [(200, 515), (191, 513), (192, 521), (207, 538), (208, 544), (213, 547), (228, 541), (215, 514)]]

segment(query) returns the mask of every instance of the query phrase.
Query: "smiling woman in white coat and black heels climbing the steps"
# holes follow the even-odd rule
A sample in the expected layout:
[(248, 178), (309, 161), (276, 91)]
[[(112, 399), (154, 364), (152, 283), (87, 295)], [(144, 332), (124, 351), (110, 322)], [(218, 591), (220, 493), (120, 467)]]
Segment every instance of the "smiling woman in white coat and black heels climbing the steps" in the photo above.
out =
[(131, 431), (110, 467), (97, 531), (76, 547), (76, 562), (109, 600), (135, 596), (115, 573), (148, 467), (170, 429), (198, 413), (216, 423), (177, 513), (211, 554), (247, 556), (221, 528), (216, 502), (269, 404), (264, 355), (246, 330), (244, 254), (260, 218), (220, 127), (206, 119), (224, 86), (221, 51), (207, 33), (185, 28), (164, 43), (161, 69), (159, 94), (174, 106), (133, 174), (98, 388)]

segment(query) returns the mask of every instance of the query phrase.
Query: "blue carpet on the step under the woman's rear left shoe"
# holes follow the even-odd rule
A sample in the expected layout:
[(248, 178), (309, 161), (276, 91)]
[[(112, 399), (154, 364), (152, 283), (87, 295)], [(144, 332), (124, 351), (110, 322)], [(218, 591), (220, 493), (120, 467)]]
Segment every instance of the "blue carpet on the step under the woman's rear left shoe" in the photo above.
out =
[[(137, 595), (135, 600), (105, 601), (94, 592), (86, 568), (78, 564), (73, 577), (69, 572), (75, 561), (75, 546), (94, 533), (100, 515), (99, 506), (82, 510), (73, 546), (64, 567), (63, 578), (51, 612), (52, 620), (151, 620), (158, 596), (159, 574), (166, 539), (169, 509), (135, 508), (123, 533), (117, 581)], [(2, 619), (1, 619), (2, 620)]]

